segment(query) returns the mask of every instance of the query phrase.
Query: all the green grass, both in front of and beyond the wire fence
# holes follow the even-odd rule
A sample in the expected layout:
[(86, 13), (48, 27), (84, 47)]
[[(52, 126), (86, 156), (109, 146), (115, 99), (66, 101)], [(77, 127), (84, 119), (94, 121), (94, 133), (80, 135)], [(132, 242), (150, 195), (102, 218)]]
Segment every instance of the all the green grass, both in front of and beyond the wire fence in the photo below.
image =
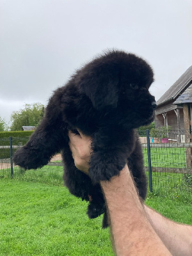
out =
[[(147, 166), (146, 148), (143, 153)], [(185, 148), (151, 148), (151, 158), (152, 166), (186, 167)], [(10, 168), (0, 170), (0, 255), (113, 255), (102, 216), (88, 219), (87, 203), (63, 188), (62, 175), (62, 166), (14, 168), (11, 180)], [(192, 178), (184, 178), (153, 172), (154, 193), (148, 193), (146, 204), (192, 225)]]

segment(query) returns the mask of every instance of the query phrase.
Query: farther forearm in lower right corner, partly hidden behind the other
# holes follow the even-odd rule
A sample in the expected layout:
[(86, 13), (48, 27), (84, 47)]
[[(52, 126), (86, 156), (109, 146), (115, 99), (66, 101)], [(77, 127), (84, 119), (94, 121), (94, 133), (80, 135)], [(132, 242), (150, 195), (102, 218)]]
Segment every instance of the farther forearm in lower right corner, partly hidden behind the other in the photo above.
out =
[(174, 256), (192, 255), (191, 226), (168, 220), (146, 205), (145, 211), (157, 235)]

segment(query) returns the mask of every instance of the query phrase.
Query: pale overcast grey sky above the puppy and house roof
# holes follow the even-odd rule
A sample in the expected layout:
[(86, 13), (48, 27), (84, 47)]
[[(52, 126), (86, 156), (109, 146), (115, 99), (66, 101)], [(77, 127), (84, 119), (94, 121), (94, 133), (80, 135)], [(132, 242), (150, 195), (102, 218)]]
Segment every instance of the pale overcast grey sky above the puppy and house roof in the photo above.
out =
[(47, 100), (105, 49), (152, 65), (156, 100), (192, 65), (191, 0), (0, 0), (0, 116)]

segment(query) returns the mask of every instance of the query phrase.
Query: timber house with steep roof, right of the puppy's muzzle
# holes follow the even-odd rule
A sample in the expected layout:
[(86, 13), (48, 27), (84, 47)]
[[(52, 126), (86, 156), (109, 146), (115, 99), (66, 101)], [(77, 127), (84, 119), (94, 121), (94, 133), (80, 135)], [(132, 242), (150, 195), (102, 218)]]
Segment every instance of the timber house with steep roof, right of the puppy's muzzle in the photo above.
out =
[(175, 131), (191, 131), (191, 120), (192, 66), (157, 100), (156, 128), (170, 125)]

